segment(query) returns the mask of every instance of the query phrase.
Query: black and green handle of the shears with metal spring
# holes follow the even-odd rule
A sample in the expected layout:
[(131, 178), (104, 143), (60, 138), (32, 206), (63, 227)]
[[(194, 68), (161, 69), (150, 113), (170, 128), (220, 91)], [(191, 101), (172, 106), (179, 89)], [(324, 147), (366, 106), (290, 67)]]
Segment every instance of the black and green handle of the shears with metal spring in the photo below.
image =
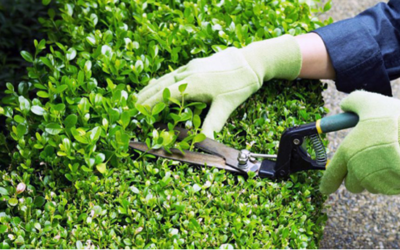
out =
[[(287, 129), (279, 143), (277, 160), (263, 160), (259, 169), (259, 176), (278, 178), (298, 171), (324, 170), (328, 160), (319, 134), (354, 127), (358, 120), (356, 114), (346, 112)], [(306, 137), (310, 138), (314, 147), (315, 160), (302, 147)]]

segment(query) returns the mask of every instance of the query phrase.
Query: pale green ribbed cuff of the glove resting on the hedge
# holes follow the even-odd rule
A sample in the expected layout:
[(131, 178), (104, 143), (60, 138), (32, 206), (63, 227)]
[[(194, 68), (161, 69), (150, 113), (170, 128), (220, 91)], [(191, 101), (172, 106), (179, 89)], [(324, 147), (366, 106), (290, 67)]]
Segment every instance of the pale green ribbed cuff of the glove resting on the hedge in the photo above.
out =
[(240, 50), (260, 82), (272, 78), (294, 80), (300, 74), (300, 46), (291, 35), (254, 42)]

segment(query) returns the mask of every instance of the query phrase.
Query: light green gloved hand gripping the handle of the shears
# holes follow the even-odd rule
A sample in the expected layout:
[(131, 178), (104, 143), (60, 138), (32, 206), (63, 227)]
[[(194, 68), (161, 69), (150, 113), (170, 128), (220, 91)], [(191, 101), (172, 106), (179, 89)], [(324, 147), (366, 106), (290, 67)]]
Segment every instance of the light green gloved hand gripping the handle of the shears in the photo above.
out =
[(343, 179), (352, 193), (400, 193), (400, 100), (355, 91), (343, 100), (344, 111), (360, 121), (339, 146), (322, 177), (321, 192), (335, 192)]

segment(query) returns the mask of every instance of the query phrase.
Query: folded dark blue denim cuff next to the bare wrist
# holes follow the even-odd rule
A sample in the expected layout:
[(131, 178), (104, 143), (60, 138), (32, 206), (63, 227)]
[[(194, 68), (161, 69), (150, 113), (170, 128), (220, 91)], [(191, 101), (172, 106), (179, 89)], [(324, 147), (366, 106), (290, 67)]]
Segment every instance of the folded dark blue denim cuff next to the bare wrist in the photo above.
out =
[(390, 79), (379, 44), (357, 18), (346, 19), (315, 31), (325, 43), (336, 72), (336, 88), (392, 95)]

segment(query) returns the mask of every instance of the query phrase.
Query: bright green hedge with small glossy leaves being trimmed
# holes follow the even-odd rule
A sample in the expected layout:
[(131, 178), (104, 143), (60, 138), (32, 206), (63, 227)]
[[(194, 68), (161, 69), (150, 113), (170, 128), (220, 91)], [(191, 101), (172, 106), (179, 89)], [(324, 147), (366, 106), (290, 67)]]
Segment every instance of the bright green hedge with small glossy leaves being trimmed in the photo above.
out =
[[(43, 0), (49, 4), (49, 0)], [(228, 46), (311, 31), (318, 1), (57, 0), (27, 79), (7, 84), (0, 114), (3, 248), (317, 248), (321, 173), (271, 181), (141, 154), (191, 149), (205, 104), (135, 106), (157, 78)], [(325, 9), (329, 8), (329, 4)], [(275, 153), (282, 132), (325, 114), (321, 83), (271, 81), (217, 139)], [(182, 86), (184, 95), (184, 86)], [(191, 129), (184, 142), (156, 121)]]

